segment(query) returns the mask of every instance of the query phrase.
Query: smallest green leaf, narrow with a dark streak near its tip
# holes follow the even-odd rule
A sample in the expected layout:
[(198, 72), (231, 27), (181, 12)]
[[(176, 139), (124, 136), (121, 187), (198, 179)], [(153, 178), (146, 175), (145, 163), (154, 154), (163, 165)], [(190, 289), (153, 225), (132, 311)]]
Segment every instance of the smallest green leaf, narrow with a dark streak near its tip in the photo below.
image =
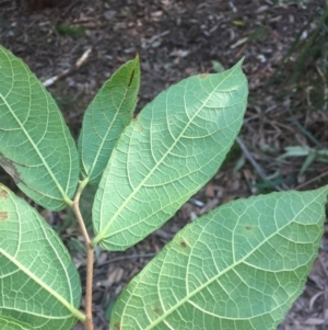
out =
[(98, 184), (112, 150), (131, 122), (140, 86), (139, 56), (122, 65), (87, 107), (79, 139), (81, 168), (89, 183)]

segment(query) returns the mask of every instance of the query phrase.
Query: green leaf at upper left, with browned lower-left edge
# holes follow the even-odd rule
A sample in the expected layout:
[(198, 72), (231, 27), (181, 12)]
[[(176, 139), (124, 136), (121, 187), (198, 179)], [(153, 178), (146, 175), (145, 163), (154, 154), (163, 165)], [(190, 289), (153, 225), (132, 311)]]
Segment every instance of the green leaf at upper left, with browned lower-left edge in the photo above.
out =
[(0, 46), (0, 166), (42, 206), (70, 204), (79, 179), (73, 138), (51, 95)]

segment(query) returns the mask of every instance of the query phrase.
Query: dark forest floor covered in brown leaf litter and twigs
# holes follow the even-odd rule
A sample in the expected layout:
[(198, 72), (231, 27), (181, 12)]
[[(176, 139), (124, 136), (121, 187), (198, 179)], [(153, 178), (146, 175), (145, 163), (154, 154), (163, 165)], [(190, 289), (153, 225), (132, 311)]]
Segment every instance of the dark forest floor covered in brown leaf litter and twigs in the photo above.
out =
[[(328, 183), (327, 155), (317, 157), (301, 175), (305, 157), (279, 158), (289, 146), (327, 152), (328, 90), (323, 54), (319, 49), (312, 62), (301, 67), (296, 65), (303, 48), (286, 56), (297, 37), (305, 43), (319, 24), (324, 0), (304, 7), (261, 0), (72, 0), (43, 10), (22, 2), (0, 0), (0, 44), (23, 58), (42, 81), (59, 75), (48, 90), (75, 137), (98, 88), (137, 53), (142, 70), (138, 110), (172, 83), (230, 68), (245, 56), (249, 104), (239, 140), (220, 172), (172, 220), (136, 247), (121, 253), (98, 251), (96, 330), (108, 328), (110, 307), (130, 278), (195, 217), (233, 198)], [(314, 77), (319, 77), (320, 83)], [(326, 93), (326, 103), (317, 102), (321, 100), (318, 89)], [(89, 221), (93, 193), (87, 190), (83, 197), (82, 210)], [(72, 215), (42, 212), (63, 238), (84, 281), (82, 237), (75, 226), (67, 225), (73, 224)], [(328, 329), (327, 268), (326, 221), (319, 258), (303, 295), (279, 330)], [(81, 329), (79, 325), (77, 329)]]

